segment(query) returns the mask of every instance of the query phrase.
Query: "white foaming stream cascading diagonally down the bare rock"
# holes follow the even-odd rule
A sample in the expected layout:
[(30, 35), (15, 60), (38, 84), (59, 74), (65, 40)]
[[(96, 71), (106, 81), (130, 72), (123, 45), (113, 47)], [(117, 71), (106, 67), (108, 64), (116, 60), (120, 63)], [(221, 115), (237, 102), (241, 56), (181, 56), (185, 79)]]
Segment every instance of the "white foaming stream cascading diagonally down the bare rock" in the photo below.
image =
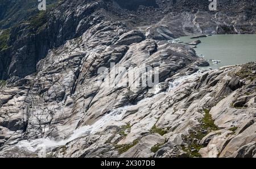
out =
[[(182, 84), (185, 81), (188, 81), (190, 79), (195, 79), (197, 76), (201, 74), (201, 71), (197, 71), (196, 73), (193, 73), (191, 75), (185, 75), (183, 77), (177, 78), (172, 82), (169, 82), (170, 86), (168, 88), (168, 91), (174, 90), (177, 86)], [(158, 91), (159, 92), (159, 91)], [(156, 95), (152, 96), (151, 98), (145, 98), (140, 100), (137, 104), (146, 104), (151, 99), (154, 99), (156, 96), (162, 94), (164, 92), (157, 93)], [(79, 138), (83, 136), (84, 134), (93, 134), (96, 132), (100, 132), (105, 129), (106, 126), (116, 123), (117, 121), (121, 121), (123, 115), (125, 115), (127, 109), (129, 107), (133, 107), (134, 105), (126, 105), (124, 107), (113, 109), (110, 113), (102, 116), (99, 120), (94, 122), (92, 125), (85, 125), (81, 128), (78, 128), (73, 131), (70, 137), (67, 139), (56, 141), (52, 140), (51, 138), (38, 138), (35, 140), (22, 140), (17, 143), (17, 146), (20, 148), (25, 148), (29, 151), (35, 152), (42, 149), (48, 149), (49, 147), (56, 147), (56, 146), (62, 146), (66, 143), (75, 140), (76, 138)]]

